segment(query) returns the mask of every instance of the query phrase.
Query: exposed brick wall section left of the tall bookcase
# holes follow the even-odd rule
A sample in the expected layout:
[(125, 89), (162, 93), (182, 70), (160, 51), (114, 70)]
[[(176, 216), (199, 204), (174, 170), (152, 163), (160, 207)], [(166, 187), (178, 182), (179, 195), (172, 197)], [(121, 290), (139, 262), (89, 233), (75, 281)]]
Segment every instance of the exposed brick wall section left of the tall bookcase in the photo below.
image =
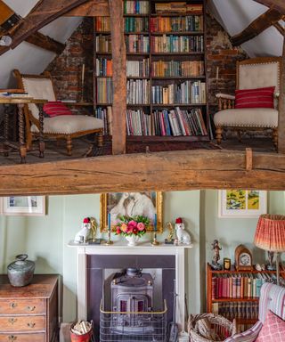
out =
[(69, 37), (66, 48), (46, 70), (53, 76), (58, 99), (80, 100), (82, 65), (85, 64), (85, 101), (93, 101), (93, 19), (85, 18)]

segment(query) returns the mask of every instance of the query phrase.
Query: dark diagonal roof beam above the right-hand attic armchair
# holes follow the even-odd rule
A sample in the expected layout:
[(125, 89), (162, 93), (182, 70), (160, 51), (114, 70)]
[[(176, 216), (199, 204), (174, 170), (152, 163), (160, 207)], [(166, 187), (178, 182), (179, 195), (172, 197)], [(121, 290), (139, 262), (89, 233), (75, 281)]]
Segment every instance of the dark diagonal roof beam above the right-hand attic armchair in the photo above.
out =
[(238, 35), (231, 38), (232, 45), (241, 45), (248, 40), (258, 36), (261, 32), (265, 31), (266, 28), (270, 28), (283, 18), (281, 12), (270, 8), (265, 13), (261, 14), (256, 20), (253, 20), (247, 28), (245, 28)]

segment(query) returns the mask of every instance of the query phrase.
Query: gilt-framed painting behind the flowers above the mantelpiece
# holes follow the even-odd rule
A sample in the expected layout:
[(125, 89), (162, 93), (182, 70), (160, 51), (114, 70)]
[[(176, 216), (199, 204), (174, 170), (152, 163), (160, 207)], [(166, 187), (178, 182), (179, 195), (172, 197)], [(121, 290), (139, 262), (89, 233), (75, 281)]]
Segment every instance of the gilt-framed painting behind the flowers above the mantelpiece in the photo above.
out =
[(147, 216), (150, 218), (148, 231), (153, 231), (154, 217), (157, 215), (157, 231), (163, 231), (162, 193), (159, 191), (109, 192), (102, 193), (100, 199), (100, 230), (106, 232), (109, 225), (115, 230), (118, 216)]

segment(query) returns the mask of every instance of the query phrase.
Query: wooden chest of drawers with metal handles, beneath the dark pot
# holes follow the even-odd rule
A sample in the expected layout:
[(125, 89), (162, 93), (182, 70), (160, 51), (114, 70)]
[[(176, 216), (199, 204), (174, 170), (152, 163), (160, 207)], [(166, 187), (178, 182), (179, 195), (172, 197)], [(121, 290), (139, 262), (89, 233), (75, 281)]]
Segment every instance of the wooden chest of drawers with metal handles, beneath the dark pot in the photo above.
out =
[(0, 275), (0, 342), (58, 341), (58, 276), (34, 275), (14, 288)]

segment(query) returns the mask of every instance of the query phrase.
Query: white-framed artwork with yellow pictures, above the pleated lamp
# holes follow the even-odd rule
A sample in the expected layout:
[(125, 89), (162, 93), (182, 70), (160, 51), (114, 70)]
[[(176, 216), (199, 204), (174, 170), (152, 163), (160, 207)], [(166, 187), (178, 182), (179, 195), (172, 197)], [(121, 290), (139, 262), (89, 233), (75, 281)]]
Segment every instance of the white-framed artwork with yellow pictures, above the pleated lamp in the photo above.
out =
[(219, 217), (258, 217), (267, 212), (267, 192), (260, 190), (219, 190)]

